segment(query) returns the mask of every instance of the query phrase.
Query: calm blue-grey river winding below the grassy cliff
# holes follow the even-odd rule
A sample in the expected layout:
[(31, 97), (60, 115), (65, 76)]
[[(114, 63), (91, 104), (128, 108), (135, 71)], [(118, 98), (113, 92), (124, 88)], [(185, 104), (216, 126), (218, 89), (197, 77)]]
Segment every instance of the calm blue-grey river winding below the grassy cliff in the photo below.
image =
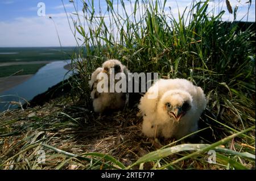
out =
[(23, 104), (23, 99), (31, 100), (34, 98), (34, 96), (47, 91), (49, 87), (52, 87), (64, 79), (67, 79), (71, 75), (71, 72), (65, 75), (68, 70), (64, 69), (64, 66), (70, 62), (71, 60), (51, 62), (39, 69), (38, 72), (27, 81), (20, 83), (7, 91), (1, 92), (0, 112), (5, 111), (8, 108), (11, 109), (17, 107), (10, 105), (9, 103), (1, 102), (20, 101)]

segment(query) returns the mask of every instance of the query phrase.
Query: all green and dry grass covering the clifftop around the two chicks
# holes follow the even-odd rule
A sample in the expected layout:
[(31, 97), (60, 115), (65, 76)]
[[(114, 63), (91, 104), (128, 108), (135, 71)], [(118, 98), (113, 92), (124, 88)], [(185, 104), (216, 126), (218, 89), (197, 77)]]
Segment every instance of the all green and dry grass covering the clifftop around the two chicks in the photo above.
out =
[[(224, 11), (211, 15), (209, 1), (193, 1), (178, 19), (164, 13), (166, 1), (131, 2), (131, 15), (122, 0), (106, 0), (106, 12), (98, 14), (93, 1), (83, 2), (84, 15), (74, 4), (71, 22), (83, 38), (77, 39), (72, 90), (42, 107), (1, 113), (2, 169), (255, 169), (254, 28), (222, 22)], [(195, 143), (143, 136), (136, 104), (111, 115), (93, 113), (88, 79), (108, 58), (131, 72), (201, 86), (208, 106)], [(46, 162), (39, 162), (42, 150)], [(216, 163), (209, 162), (213, 150)]]

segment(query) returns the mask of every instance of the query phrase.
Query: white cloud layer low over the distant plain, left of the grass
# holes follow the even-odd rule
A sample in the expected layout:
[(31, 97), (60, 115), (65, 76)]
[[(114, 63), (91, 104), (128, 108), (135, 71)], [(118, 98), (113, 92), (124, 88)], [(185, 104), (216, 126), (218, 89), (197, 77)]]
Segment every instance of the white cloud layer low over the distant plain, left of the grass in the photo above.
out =
[[(56, 23), (61, 45), (76, 45), (65, 13), (48, 16), (52, 16)], [(48, 16), (16, 18), (11, 22), (0, 22), (0, 47), (60, 46), (54, 23)]]

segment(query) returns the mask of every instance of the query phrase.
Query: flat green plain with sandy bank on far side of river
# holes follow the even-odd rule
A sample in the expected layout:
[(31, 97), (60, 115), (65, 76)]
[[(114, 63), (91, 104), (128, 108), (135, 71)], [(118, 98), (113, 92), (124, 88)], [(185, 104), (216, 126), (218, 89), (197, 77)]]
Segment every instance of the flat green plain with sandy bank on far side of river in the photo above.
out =
[(0, 48), (0, 92), (26, 81), (46, 64), (71, 59), (75, 47)]

